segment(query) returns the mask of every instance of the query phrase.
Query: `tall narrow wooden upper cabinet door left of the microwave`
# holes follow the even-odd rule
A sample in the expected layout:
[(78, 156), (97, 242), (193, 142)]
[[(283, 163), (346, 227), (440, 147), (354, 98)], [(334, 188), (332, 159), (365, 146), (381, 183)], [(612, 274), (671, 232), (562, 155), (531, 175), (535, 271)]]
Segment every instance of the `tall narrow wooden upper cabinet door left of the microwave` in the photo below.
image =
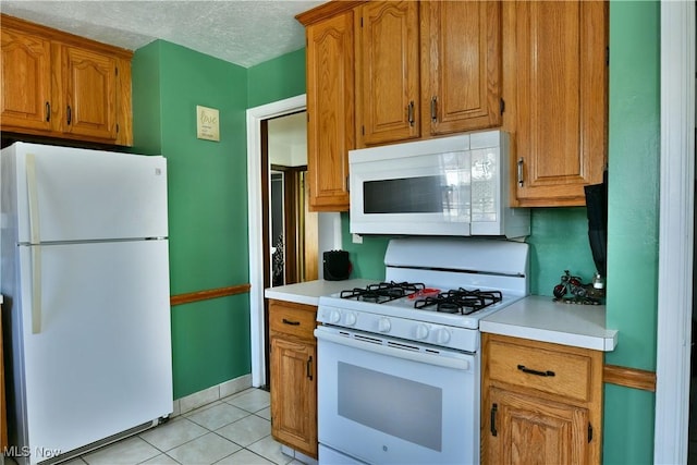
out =
[(353, 11), (307, 27), (307, 173), (313, 211), (348, 210), (354, 140)]

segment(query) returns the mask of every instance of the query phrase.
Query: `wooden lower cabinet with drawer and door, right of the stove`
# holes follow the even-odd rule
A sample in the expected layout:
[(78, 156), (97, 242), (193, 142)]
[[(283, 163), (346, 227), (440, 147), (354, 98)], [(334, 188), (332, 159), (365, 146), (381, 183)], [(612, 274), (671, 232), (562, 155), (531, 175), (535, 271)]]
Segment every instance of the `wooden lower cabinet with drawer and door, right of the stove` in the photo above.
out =
[(602, 352), (482, 334), (481, 463), (599, 464)]

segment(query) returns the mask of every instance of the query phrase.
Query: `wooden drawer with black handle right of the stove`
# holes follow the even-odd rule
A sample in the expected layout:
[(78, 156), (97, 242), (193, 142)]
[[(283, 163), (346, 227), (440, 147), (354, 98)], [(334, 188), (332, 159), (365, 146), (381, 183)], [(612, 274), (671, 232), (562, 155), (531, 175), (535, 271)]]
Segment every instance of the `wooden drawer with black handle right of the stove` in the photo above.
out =
[(591, 396), (592, 358), (551, 345), (528, 346), (492, 339), (489, 379), (587, 402)]

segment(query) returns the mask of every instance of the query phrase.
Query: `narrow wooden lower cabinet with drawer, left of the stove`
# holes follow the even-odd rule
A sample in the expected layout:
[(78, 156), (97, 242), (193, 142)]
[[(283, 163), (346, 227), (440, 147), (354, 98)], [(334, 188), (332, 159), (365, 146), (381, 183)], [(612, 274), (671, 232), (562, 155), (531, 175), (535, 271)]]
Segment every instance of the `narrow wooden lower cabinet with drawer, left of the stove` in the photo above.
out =
[(317, 307), (269, 302), (271, 435), (317, 458)]

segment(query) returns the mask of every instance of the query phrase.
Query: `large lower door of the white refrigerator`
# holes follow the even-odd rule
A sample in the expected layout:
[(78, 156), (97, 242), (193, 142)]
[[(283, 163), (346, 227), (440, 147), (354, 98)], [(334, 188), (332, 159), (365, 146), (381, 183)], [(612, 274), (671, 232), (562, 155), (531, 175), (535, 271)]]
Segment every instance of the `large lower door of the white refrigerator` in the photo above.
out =
[(167, 241), (40, 247), (41, 331), (29, 325), (29, 246), (12, 309), (23, 321), (26, 445), (68, 452), (170, 414)]

